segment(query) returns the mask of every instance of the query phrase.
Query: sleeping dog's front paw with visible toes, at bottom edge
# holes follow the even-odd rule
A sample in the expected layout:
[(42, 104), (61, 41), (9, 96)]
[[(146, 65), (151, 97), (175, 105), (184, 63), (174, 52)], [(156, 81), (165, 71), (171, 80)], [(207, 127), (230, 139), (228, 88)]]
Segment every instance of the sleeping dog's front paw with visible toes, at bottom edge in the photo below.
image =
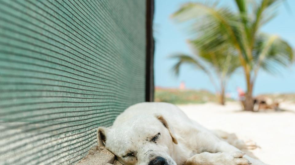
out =
[(242, 152), (220, 152), (218, 161), (220, 165), (249, 165), (252, 164), (246, 158)]

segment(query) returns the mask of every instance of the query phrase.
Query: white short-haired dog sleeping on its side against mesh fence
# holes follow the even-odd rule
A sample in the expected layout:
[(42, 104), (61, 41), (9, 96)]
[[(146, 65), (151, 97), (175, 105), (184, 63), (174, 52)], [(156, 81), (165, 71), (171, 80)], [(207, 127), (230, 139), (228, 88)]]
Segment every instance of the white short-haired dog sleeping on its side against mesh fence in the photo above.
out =
[(97, 139), (124, 165), (265, 165), (189, 119), (169, 103), (139, 103)]

